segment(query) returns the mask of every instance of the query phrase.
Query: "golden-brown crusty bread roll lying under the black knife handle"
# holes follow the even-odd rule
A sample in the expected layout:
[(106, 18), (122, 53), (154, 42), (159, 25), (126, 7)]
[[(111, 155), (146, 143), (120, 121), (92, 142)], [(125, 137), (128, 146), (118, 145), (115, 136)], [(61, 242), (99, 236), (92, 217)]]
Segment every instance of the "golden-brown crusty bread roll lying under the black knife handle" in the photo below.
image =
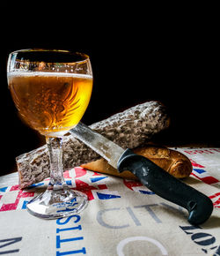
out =
[[(156, 163), (159, 167), (165, 169), (165, 171), (177, 178), (188, 177), (193, 169), (192, 163), (185, 154), (181, 154), (180, 152), (167, 147), (144, 146), (137, 147), (133, 151), (136, 154), (143, 155), (150, 159), (150, 161)], [(130, 171), (126, 170), (119, 173), (117, 169), (114, 169), (103, 158), (94, 162), (82, 164), (81, 167), (96, 172), (106, 173), (108, 175), (137, 180), (137, 177)]]

